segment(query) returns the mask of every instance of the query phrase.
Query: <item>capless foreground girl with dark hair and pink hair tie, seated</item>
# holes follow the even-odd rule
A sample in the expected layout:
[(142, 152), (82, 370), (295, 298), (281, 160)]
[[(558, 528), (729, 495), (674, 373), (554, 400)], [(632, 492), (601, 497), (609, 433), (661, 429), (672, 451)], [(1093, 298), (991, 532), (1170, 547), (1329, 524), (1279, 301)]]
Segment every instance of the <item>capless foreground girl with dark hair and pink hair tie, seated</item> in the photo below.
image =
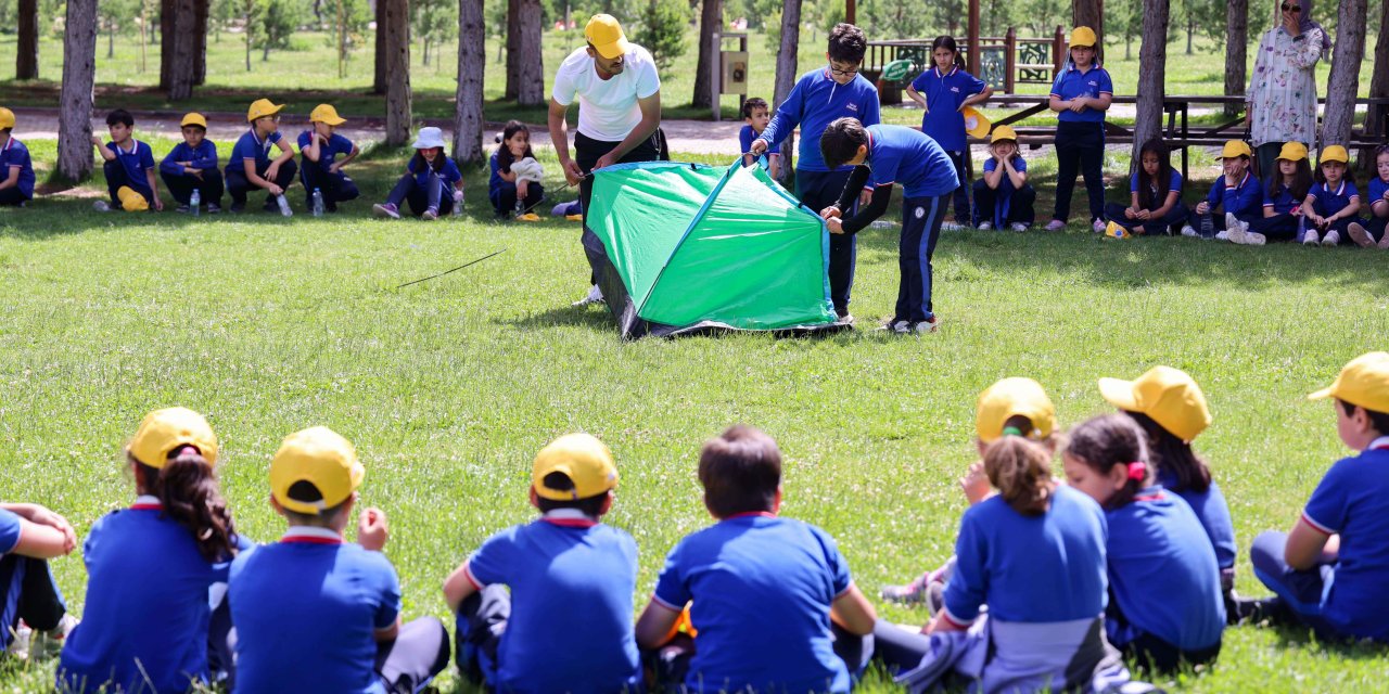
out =
[(1154, 486), (1143, 430), (1097, 416), (1071, 430), (1061, 458), (1067, 484), (1104, 508), (1110, 643), (1163, 672), (1214, 661), (1225, 629), (1215, 550), (1186, 501)]

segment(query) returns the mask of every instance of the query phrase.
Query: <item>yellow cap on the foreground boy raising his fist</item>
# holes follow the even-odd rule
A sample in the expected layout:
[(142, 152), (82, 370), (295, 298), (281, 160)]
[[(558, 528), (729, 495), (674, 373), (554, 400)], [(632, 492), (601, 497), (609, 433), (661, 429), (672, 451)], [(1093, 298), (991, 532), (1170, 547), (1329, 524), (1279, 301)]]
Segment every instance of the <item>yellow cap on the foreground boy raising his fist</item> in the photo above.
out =
[[(361, 486), (367, 469), (357, 461), (351, 441), (326, 426), (294, 432), (279, 444), (269, 462), (269, 490), (275, 501), (296, 514), (318, 515), (333, 508)], [(318, 489), (318, 501), (289, 498), (289, 487), (307, 482)]]

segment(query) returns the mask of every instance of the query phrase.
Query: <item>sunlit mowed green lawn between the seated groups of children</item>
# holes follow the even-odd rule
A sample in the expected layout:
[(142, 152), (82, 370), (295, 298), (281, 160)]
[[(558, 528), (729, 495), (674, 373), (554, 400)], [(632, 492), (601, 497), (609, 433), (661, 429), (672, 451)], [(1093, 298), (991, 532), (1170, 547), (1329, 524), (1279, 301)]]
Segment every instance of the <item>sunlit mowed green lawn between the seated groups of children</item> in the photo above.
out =
[[(157, 140), (157, 154), (168, 144)], [(51, 155), (51, 143), (31, 146)], [(489, 534), (535, 518), (535, 452), (586, 430), (618, 459), (607, 520), (642, 550), (640, 609), (669, 547), (710, 523), (694, 476), (700, 443), (746, 422), (782, 446), (783, 514), (831, 532), (876, 595), (950, 555), (979, 390), (1036, 378), (1071, 425), (1110, 409), (1097, 378), (1168, 364), (1210, 397), (1215, 422), (1197, 448), (1231, 502), (1238, 587), (1261, 595), (1250, 540), (1290, 526), (1346, 454), (1331, 407), (1304, 396), (1389, 335), (1383, 253), (1114, 242), (1074, 228), (945, 235), (942, 332), (889, 337), (872, 326), (896, 297), (896, 232), (870, 229), (860, 330), (624, 343), (606, 311), (569, 307), (588, 278), (578, 225), (493, 221), (481, 168), (468, 169), (463, 218), (371, 219), (401, 164), (403, 153), (372, 151), (354, 172), (364, 198), (325, 219), (100, 215), (72, 197), (0, 211), (0, 498), (46, 504), (86, 533), (133, 498), (121, 447), (140, 416), (179, 404), (207, 414), (221, 437), (239, 529), (272, 541), (283, 523), (267, 501), (269, 458), (288, 433), (328, 425), (358, 447), (364, 502), (390, 518), (386, 554), (406, 616), (447, 618), (443, 577)], [(550, 183), (557, 200), (572, 197)], [(292, 200), (301, 211), (297, 187)], [(81, 613), (81, 557), (53, 568)], [(1163, 682), (1192, 693), (1367, 691), (1382, 684), (1386, 655), (1240, 626), (1218, 665)], [(0, 688), (40, 691), (51, 672), (51, 662), (10, 663)], [(467, 691), (451, 676), (440, 687)], [(897, 691), (881, 675), (865, 690)]]

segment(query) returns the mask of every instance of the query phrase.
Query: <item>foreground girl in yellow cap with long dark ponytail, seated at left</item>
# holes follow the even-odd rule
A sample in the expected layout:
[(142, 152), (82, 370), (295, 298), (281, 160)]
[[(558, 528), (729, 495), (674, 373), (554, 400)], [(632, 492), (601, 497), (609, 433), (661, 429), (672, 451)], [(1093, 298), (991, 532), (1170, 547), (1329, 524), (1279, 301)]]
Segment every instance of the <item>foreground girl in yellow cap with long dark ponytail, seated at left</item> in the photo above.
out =
[(192, 409), (157, 409), (125, 457), (138, 497), (88, 534), (86, 611), (63, 650), (58, 691), (188, 691), (231, 663), (231, 620), (208, 591), (226, 583), (244, 541), (213, 469), (217, 434)]

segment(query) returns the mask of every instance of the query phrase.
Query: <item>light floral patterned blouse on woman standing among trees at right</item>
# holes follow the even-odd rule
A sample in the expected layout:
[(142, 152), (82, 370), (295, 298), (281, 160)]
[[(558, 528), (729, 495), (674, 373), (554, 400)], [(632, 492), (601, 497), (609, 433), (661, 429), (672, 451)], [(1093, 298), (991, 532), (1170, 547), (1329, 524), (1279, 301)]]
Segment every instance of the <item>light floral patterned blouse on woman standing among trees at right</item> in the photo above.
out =
[(1245, 99), (1253, 115), (1250, 139), (1256, 147), (1271, 142), (1300, 142), (1315, 151), (1315, 68), (1325, 44), (1326, 37), (1320, 29), (1297, 37), (1282, 26), (1264, 33)]

